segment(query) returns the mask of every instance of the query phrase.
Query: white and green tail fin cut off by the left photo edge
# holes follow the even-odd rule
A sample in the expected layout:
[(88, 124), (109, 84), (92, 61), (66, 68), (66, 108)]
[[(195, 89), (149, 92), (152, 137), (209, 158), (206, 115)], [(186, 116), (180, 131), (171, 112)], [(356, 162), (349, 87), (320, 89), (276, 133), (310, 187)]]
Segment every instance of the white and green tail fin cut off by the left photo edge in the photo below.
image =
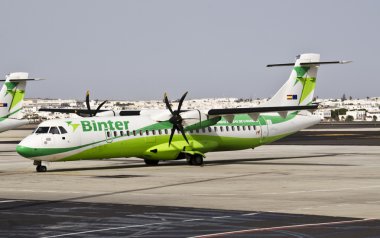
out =
[(25, 95), (28, 73), (11, 73), (5, 76), (5, 81), (0, 91), (0, 118), (21, 119), (22, 102)]

